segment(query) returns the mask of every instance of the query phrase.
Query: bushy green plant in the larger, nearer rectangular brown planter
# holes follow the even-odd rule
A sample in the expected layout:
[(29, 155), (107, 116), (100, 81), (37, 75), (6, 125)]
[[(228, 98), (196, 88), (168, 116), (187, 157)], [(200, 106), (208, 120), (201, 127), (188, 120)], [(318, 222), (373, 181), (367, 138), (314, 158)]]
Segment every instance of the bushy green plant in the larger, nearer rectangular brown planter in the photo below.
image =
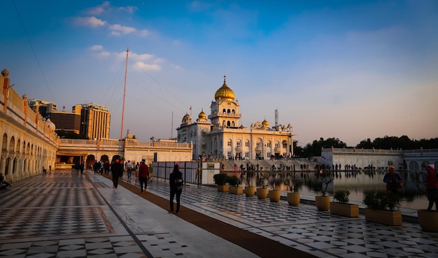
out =
[(394, 210), (398, 197), (388, 191), (367, 191), (363, 199), (365, 220), (392, 226), (402, 225), (402, 212)]

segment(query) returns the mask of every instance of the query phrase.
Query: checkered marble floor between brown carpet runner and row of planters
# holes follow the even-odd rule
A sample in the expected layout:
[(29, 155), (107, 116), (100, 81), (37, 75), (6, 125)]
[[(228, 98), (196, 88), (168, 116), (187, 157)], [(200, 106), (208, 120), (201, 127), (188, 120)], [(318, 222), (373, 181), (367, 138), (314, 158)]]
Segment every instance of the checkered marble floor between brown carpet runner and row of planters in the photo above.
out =
[[(148, 190), (167, 198), (169, 187), (155, 180)], [(181, 205), (317, 257), (438, 257), (438, 233), (418, 224), (391, 227), (367, 222), (364, 215), (341, 217), (313, 205), (288, 206), (196, 185), (185, 187)]]

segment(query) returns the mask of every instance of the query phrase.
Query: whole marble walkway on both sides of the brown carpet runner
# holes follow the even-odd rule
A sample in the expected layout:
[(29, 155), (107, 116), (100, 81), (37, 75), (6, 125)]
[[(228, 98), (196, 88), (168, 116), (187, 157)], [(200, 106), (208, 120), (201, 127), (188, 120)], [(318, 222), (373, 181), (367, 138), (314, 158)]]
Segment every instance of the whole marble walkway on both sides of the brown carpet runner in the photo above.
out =
[(196, 185), (185, 187), (183, 208), (173, 215), (162, 203), (155, 205), (144, 197), (168, 199), (167, 182), (150, 183), (148, 194), (134, 187), (138, 185), (134, 176), (128, 183), (113, 189), (111, 180), (90, 171), (84, 175), (52, 171), (13, 183), (13, 188), (0, 191), (0, 256), (260, 257), (251, 248), (187, 222), (190, 218), (185, 216), (192, 210), (222, 221), (223, 227), (263, 236), (268, 251), (275, 241), (315, 257), (437, 257), (438, 253), (438, 234), (422, 231), (418, 224), (390, 227), (366, 222), (363, 215), (340, 217), (310, 204), (292, 207), (286, 201), (271, 203)]

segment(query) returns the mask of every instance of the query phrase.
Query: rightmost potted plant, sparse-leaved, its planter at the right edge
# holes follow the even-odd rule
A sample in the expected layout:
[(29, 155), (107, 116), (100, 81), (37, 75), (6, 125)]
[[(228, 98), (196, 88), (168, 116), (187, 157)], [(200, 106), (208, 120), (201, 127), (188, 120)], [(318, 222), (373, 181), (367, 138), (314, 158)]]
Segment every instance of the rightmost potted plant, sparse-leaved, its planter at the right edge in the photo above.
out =
[[(429, 200), (431, 197), (428, 195), (428, 191), (425, 190), (427, 189), (427, 184), (425, 180), (423, 180), (423, 172), (416, 172), (414, 177), (417, 189), (428, 196)], [(421, 229), (424, 231), (438, 232), (438, 210), (419, 209), (417, 210), (417, 215), (418, 224), (420, 224)]]

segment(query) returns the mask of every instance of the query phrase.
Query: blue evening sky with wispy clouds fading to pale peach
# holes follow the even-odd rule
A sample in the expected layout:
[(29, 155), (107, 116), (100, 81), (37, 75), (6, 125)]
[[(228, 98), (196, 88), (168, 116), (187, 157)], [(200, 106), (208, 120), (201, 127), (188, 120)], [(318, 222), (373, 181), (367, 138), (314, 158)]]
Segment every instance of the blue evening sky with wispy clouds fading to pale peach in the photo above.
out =
[(0, 69), (15, 91), (58, 111), (108, 106), (111, 138), (122, 117), (123, 137), (176, 137), (183, 115), (211, 113), (224, 76), (241, 125), (272, 127), (278, 110), (303, 147), (438, 137), (435, 0), (5, 0), (1, 10)]

